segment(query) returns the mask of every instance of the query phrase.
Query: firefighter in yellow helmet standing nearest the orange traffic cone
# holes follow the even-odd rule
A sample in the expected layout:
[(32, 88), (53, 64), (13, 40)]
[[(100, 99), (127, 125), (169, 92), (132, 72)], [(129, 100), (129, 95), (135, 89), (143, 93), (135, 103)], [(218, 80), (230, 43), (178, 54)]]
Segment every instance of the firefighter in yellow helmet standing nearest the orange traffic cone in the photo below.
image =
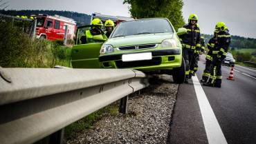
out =
[(228, 47), (230, 45), (231, 36), (225, 23), (219, 22), (215, 27), (217, 32), (217, 42), (212, 50), (212, 64), (210, 70), (210, 79), (207, 83), (203, 83), (206, 86), (214, 86), (221, 88), (221, 62), (226, 58)]

